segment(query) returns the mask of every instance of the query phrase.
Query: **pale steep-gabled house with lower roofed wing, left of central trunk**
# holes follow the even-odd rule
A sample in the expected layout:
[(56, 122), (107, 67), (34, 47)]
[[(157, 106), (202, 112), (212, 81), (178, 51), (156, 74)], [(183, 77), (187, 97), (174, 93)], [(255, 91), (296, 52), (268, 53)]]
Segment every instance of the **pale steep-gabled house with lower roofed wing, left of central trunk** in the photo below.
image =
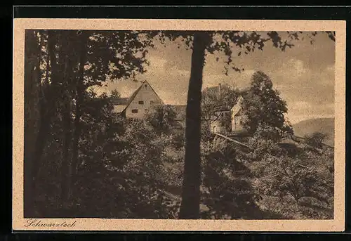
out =
[(121, 113), (126, 118), (143, 119), (148, 110), (154, 105), (164, 105), (152, 86), (145, 80), (129, 98), (113, 100), (114, 112)]

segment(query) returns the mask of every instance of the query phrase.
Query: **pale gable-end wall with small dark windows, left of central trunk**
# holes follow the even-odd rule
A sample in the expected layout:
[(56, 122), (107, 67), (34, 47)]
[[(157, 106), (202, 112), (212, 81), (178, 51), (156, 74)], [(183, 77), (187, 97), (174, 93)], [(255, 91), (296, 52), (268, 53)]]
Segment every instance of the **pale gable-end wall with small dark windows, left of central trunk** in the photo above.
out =
[[(140, 101), (143, 101), (143, 103), (140, 103)], [(126, 117), (142, 119), (153, 105), (161, 104), (162, 101), (159, 96), (154, 93), (150, 84), (145, 82), (132, 102), (128, 105), (128, 108), (126, 108)]]

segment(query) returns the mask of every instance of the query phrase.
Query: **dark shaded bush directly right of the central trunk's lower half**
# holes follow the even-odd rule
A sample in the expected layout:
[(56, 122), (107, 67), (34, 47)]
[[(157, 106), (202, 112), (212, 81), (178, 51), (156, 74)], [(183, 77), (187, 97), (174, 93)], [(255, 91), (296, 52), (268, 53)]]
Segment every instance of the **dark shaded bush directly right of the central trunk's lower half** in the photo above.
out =
[(237, 219), (256, 207), (250, 170), (238, 158), (234, 148), (215, 139), (203, 143), (204, 218)]

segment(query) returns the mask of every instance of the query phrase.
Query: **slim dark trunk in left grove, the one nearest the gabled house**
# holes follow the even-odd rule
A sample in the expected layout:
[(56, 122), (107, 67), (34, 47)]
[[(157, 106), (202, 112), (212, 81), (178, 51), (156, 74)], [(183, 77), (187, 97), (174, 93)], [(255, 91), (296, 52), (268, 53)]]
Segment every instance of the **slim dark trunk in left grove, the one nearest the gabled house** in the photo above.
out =
[(74, 136), (72, 146), (72, 185), (75, 185), (77, 181), (79, 138), (81, 136), (81, 102), (84, 98), (84, 65), (86, 63), (86, 44), (88, 40), (88, 34), (86, 34), (86, 32), (82, 32), (80, 39), (81, 52), (79, 60), (79, 75), (76, 82), (76, 114), (74, 119)]

